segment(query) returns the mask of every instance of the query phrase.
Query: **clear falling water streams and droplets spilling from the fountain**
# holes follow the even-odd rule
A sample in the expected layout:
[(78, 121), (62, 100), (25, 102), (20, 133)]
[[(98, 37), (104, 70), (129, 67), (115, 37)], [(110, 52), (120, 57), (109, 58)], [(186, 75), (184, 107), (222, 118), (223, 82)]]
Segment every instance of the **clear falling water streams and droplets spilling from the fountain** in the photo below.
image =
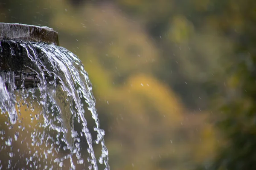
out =
[[(1, 162), (0, 158), (0, 169), (4, 166), (15, 169), (18, 162), (12, 160), (15, 148), (16, 156), (19, 154), (26, 160), (26, 167), (55, 169), (53, 163), (64, 167), (64, 161), (69, 160), (69, 168), (76, 169), (76, 164), (84, 164), (81, 141), (86, 140), (89, 169), (97, 170), (94, 142), (85, 118), (87, 105), (96, 123), (95, 143), (102, 146), (98, 161), (109, 170), (105, 132), (99, 127), (92, 85), (78, 57), (53, 44), (2, 40), (0, 61), (7, 53), (12, 59), (24, 59), (20, 63), (22, 71), (0, 72), (0, 112), (6, 117), (8, 127), (4, 129), (0, 124), (0, 155), (9, 156), (7, 162)], [(25, 88), (28, 82), (33, 82), (35, 88)], [(24, 123), (28, 118), (31, 124)], [(11, 132), (14, 135), (8, 136)], [(24, 135), (25, 132), (29, 135)], [(13, 145), (19, 138), (26, 148)]]

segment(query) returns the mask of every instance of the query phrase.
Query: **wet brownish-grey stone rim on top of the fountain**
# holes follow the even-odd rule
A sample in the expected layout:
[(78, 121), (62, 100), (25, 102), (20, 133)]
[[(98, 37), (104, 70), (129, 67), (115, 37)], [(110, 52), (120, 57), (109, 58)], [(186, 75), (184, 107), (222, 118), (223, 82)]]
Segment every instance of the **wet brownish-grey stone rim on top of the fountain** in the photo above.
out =
[(59, 45), (58, 32), (46, 26), (0, 23), (0, 40), (23, 40)]

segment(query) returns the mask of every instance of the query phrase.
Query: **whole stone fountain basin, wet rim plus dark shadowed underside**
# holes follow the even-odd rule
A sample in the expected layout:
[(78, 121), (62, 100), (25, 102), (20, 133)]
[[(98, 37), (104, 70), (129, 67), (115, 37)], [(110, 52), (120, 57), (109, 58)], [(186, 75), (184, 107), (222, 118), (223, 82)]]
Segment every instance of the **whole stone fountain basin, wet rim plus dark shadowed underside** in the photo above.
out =
[[(40, 80), (38, 75), (27, 67), (33, 63), (30, 63), (28, 53), (21, 45), (22, 42), (59, 45), (58, 33), (46, 26), (0, 23), (0, 72), (15, 73), (16, 89), (34, 88), (40, 83)], [(23, 75), (26, 75), (25, 79)], [(52, 77), (46, 74), (46, 79), (51, 80)]]

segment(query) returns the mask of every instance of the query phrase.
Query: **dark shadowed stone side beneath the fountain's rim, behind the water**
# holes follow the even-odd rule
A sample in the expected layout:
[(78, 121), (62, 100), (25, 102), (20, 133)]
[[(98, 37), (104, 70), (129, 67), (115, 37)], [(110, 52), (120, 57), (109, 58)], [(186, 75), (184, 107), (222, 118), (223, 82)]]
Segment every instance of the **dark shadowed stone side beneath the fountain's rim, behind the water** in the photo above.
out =
[[(42, 59), (42, 64), (35, 65), (36, 56)], [(35, 73), (38, 66), (50, 69), (50, 63), (44, 60), (44, 53), (40, 49), (27, 50), (21, 42), (0, 40), (0, 73), (14, 73), (16, 89), (35, 88), (41, 83)], [(53, 80), (47, 72), (44, 72), (44, 75), (47, 82)], [(6, 87), (8, 88), (7, 85)]]

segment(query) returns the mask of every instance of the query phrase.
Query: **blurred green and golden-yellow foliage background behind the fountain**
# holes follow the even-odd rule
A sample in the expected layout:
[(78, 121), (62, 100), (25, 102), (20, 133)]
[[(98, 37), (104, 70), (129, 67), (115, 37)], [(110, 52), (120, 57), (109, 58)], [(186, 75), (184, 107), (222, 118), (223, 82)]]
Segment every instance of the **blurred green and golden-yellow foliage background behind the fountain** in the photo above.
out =
[(256, 1), (0, 0), (0, 22), (79, 56), (111, 170), (256, 168)]

